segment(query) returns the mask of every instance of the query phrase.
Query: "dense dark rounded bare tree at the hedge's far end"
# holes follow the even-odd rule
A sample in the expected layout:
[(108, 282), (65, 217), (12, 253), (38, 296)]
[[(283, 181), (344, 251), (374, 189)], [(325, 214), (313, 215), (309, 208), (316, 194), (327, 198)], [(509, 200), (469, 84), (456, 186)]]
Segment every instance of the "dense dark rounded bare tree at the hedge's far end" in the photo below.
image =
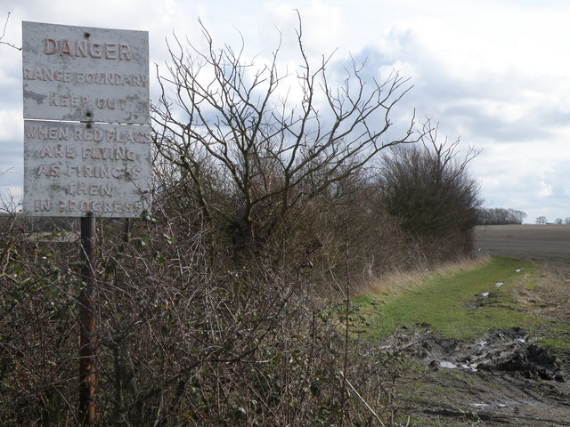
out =
[(468, 164), (479, 151), (468, 148), (460, 157), (460, 140), (438, 141), (437, 126), (429, 120), (421, 141), (423, 147), (396, 147), (387, 153), (379, 180), (387, 214), (428, 246), (425, 254), (441, 260), (471, 249), (481, 200)]

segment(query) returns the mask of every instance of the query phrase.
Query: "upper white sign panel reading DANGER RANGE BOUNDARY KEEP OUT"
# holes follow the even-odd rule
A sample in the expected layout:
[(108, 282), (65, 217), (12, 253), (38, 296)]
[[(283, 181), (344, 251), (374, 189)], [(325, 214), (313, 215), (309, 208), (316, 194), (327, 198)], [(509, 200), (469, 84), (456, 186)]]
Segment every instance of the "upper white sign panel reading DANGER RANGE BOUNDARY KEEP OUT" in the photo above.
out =
[(150, 124), (149, 33), (22, 22), (24, 118)]

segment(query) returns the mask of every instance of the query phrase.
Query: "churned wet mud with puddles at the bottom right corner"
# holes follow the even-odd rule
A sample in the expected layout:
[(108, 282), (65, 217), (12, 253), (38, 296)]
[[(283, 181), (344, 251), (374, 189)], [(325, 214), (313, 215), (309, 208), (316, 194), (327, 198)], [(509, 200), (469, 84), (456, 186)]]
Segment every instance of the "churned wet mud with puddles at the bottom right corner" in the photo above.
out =
[(461, 341), (434, 334), (424, 324), (401, 329), (384, 345), (424, 365), (426, 374), (407, 407), (422, 419), (452, 418), (449, 425), (458, 426), (474, 420), (483, 425), (570, 425), (567, 355), (532, 342), (523, 328)]

